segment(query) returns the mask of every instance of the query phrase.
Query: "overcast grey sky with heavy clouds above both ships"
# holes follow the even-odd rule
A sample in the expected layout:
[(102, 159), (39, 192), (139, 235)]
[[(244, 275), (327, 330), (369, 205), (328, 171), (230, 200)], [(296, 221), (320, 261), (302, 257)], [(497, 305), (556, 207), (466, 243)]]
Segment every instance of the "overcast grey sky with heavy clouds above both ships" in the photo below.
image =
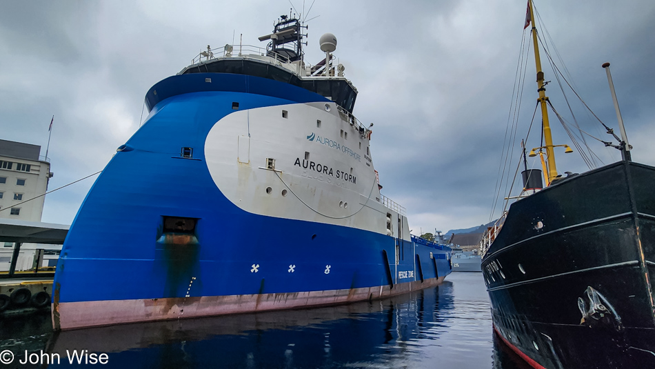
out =
[[(302, 1), (293, 3), (303, 12)], [(359, 90), (354, 114), (374, 123), (372, 157), (383, 194), (407, 208), (414, 234), (490, 219), (525, 3), (317, 0), (308, 14), (319, 17), (308, 23), (305, 61), (321, 60), (321, 34), (336, 36), (334, 54)], [(265, 47), (257, 37), (290, 8), (288, 0), (0, 0), (0, 138), (40, 145), (43, 155), (54, 114), (48, 189), (102, 170), (139, 127), (154, 83), (188, 66), (208, 44), (233, 37), (238, 44), (243, 34), (244, 44)], [(601, 68), (612, 63), (633, 159), (655, 165), (655, 2), (537, 0), (536, 8), (578, 93), (617, 128)], [(528, 62), (519, 136), (537, 96)], [(544, 69), (552, 80), (547, 94), (567, 112)], [(610, 139), (589, 114), (579, 114), (578, 123)], [(553, 130), (555, 143), (570, 144), (555, 121)], [(533, 132), (528, 146), (540, 146), (539, 139)], [(604, 163), (620, 159), (594, 141), (587, 138)], [(557, 154), (560, 172), (587, 170), (578, 154)], [(93, 181), (48, 195), (42, 220), (70, 224)]]

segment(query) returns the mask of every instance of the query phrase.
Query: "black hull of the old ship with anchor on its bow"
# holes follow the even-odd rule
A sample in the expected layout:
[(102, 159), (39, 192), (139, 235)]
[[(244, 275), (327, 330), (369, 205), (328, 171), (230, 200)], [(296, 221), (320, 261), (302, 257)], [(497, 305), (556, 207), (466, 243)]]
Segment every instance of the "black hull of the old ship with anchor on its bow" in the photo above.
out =
[(655, 368), (655, 168), (516, 201), (482, 261), (494, 330), (534, 368)]

